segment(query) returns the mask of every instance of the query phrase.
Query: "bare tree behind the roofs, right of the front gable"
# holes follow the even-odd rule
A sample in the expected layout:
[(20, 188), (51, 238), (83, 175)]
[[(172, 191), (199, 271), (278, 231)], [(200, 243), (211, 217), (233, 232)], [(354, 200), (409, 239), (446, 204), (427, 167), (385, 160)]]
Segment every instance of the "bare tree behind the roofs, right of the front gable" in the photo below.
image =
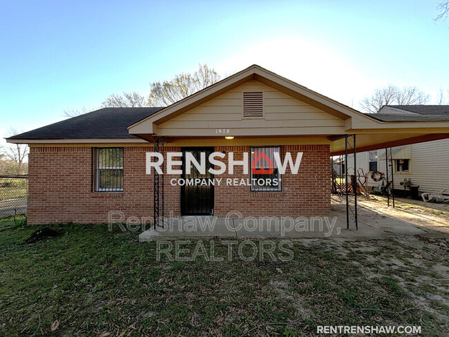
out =
[(429, 99), (430, 95), (419, 90), (416, 86), (398, 88), (390, 84), (374, 90), (371, 97), (365, 97), (361, 100), (360, 105), (367, 113), (377, 113), (384, 105), (426, 104)]

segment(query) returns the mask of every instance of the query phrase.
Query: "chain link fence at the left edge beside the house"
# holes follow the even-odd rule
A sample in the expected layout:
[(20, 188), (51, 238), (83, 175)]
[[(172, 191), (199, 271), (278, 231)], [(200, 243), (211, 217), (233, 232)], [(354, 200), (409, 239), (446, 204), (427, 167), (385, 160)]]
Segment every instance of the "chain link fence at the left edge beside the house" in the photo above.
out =
[(28, 175), (0, 175), (0, 219), (26, 214)]

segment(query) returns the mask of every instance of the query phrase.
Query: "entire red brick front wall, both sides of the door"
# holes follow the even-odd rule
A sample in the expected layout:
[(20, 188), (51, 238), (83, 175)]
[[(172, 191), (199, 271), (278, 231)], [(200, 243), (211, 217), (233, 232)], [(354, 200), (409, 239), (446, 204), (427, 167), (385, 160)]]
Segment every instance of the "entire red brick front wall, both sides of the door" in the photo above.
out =
[[(180, 148), (166, 147), (168, 151)], [(29, 157), (28, 222), (108, 222), (110, 211), (121, 211), (125, 220), (135, 216), (148, 222), (153, 217), (153, 175), (145, 174), (145, 153), (152, 146), (124, 147), (124, 191), (93, 192), (93, 155), (90, 146), (32, 146)], [(241, 159), (249, 146), (218, 146), (216, 151), (233, 151)], [(303, 151), (298, 175), (287, 170), (282, 192), (250, 192), (249, 186), (216, 186), (215, 214), (228, 211), (242, 215), (318, 215), (330, 209), (329, 146), (283, 146), (285, 151)], [(227, 156), (225, 157), (225, 162)], [(244, 177), (242, 168), (237, 175)], [(165, 177), (165, 214), (180, 215), (180, 187)], [(225, 181), (228, 175), (221, 175)], [(245, 178), (249, 175), (245, 176)], [(118, 215), (114, 215), (118, 220)]]

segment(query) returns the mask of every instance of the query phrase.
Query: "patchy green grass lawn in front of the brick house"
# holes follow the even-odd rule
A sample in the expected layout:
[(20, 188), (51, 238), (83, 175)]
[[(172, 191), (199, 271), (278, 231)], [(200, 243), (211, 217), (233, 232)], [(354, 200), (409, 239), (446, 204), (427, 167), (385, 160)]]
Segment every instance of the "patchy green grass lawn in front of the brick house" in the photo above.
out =
[[(289, 262), (170, 262), (157, 261), (156, 244), (138, 243), (138, 232), (58, 224), (50, 226), (57, 237), (27, 244), (41, 227), (12, 226), (0, 232), (0, 336), (317, 336), (317, 325), (449, 331), (441, 239), (301, 240)], [(226, 256), (227, 246), (214, 244)]]

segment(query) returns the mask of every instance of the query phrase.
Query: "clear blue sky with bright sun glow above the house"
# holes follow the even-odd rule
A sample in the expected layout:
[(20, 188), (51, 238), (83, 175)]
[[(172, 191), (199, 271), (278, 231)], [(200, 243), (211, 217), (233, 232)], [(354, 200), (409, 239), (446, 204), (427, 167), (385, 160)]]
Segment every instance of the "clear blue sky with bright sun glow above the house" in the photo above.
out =
[(354, 108), (388, 84), (436, 99), (449, 89), (437, 2), (2, 1), (0, 135), (146, 95), (200, 63), (221, 75), (259, 64)]

